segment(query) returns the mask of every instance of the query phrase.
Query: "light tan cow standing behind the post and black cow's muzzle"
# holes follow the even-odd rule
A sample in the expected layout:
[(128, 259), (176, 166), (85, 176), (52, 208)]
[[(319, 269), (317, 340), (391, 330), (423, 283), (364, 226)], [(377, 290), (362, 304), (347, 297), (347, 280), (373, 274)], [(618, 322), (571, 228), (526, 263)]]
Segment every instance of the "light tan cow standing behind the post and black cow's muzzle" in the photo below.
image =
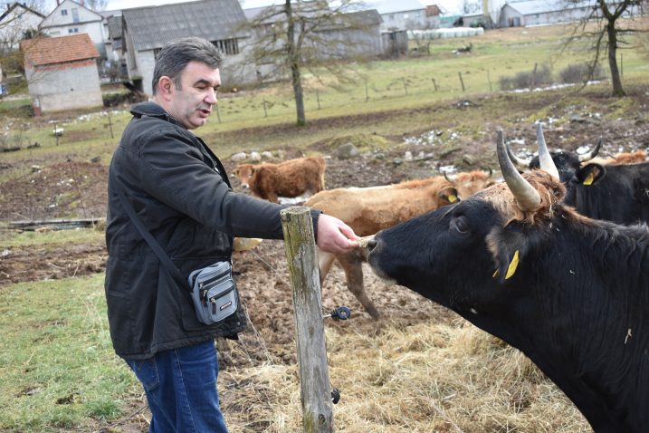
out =
[[(482, 175), (475, 174), (475, 178), (488, 178), (486, 173), (480, 173)], [(462, 178), (466, 179), (464, 176)], [(476, 182), (480, 185), (479, 189), (472, 190), (465, 180), (463, 185), (466, 185), (466, 194), (472, 195), (484, 188), (484, 182), (484, 179)], [(329, 189), (310, 197), (305, 206), (338, 217), (353, 228), (358, 236), (369, 236), (429, 210), (449, 205), (457, 199), (457, 189), (447, 179), (439, 176), (384, 187)], [(380, 313), (367, 297), (363, 286), (364, 253), (363, 248), (347, 255), (319, 251), (320, 284), (329, 273), (334, 260), (338, 260), (345, 271), (349, 291), (354, 293), (367, 313), (377, 319)]]

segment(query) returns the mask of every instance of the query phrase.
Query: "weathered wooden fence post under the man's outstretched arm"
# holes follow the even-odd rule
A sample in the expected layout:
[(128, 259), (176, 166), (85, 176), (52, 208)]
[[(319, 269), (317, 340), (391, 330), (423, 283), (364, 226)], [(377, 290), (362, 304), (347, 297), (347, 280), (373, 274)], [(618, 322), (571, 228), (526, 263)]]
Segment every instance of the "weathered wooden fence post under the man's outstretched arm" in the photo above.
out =
[(281, 215), (295, 309), (302, 427), (306, 433), (330, 433), (333, 409), (310, 208), (289, 207)]

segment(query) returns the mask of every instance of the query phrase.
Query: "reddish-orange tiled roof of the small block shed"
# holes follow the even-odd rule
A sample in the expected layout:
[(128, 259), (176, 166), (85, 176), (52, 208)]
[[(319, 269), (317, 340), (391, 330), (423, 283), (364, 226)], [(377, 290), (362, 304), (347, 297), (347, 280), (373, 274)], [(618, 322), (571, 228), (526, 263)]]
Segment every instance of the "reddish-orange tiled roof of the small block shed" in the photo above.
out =
[(20, 43), (25, 63), (33, 66), (79, 62), (100, 56), (88, 34), (28, 39)]

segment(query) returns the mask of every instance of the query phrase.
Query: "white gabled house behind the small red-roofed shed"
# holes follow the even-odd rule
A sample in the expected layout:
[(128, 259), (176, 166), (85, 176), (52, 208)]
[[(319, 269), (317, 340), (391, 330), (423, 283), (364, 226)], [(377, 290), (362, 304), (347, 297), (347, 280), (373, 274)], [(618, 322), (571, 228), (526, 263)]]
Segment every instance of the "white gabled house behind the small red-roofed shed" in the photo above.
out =
[[(58, 3), (58, 2), (57, 2)], [(101, 58), (106, 58), (104, 17), (85, 7), (82, 2), (63, 0), (48, 14), (39, 29), (52, 37), (70, 34), (88, 34)]]

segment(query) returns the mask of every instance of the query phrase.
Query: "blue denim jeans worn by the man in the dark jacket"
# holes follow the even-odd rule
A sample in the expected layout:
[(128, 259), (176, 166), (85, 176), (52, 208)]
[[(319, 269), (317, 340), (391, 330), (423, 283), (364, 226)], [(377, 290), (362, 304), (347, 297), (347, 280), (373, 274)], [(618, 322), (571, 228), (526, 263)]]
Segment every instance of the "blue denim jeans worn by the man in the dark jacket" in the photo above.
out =
[(147, 393), (150, 433), (227, 433), (216, 391), (214, 340), (125, 361)]

